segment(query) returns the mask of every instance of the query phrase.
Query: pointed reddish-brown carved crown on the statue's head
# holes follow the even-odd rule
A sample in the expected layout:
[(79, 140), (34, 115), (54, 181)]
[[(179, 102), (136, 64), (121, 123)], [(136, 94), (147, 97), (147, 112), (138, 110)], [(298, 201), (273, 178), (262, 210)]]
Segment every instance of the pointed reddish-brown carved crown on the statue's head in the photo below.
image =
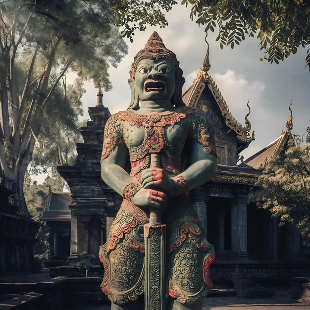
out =
[(175, 53), (166, 49), (165, 45), (162, 42), (162, 39), (159, 37), (156, 31), (153, 32), (144, 49), (139, 51), (134, 58), (134, 62), (132, 63), (131, 69), (129, 71), (130, 77), (133, 80), (135, 79), (135, 72), (137, 70), (139, 61), (145, 58), (154, 60), (161, 58), (168, 59), (169, 61), (171, 61), (175, 69), (176, 79), (182, 77), (183, 75), (183, 71), (179, 67), (180, 63), (177, 60)]

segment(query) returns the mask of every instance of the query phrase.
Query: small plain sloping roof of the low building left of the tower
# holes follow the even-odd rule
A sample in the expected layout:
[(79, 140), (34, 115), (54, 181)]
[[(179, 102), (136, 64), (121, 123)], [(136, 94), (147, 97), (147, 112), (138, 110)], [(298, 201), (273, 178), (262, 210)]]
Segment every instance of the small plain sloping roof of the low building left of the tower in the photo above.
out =
[(70, 221), (71, 210), (69, 205), (72, 203), (70, 193), (52, 193), (48, 208), (43, 212), (43, 221)]

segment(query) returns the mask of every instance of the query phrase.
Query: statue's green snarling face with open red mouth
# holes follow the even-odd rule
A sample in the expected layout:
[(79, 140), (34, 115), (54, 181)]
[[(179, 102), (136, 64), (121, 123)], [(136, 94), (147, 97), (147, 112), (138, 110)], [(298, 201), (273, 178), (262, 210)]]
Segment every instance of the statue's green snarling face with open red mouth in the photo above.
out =
[(135, 88), (141, 102), (170, 101), (175, 89), (175, 70), (167, 59), (142, 59), (135, 72)]

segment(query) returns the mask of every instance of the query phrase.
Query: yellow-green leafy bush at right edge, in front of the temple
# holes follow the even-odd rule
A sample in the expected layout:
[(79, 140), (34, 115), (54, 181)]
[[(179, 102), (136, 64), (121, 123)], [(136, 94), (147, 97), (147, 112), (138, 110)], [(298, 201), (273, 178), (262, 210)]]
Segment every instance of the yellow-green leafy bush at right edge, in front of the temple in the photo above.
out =
[(269, 209), (280, 225), (293, 223), (310, 244), (310, 145), (290, 147), (271, 161), (255, 184), (259, 207)]

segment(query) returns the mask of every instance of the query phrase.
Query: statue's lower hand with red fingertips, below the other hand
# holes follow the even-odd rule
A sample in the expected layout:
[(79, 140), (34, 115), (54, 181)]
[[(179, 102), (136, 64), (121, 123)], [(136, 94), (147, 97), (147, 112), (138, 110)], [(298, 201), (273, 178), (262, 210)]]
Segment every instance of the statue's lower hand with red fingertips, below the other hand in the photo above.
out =
[(141, 188), (130, 200), (134, 205), (143, 207), (156, 207), (162, 209), (166, 206), (166, 194), (154, 189)]

